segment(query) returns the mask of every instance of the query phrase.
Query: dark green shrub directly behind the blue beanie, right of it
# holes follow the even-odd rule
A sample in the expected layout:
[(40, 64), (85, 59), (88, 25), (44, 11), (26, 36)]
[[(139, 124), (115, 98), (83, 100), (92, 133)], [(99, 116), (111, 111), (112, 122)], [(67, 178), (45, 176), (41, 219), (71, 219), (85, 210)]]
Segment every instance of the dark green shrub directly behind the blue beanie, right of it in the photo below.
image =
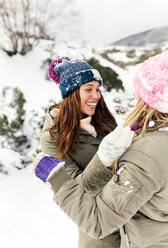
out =
[(87, 60), (87, 62), (100, 72), (103, 78), (103, 86), (107, 91), (111, 91), (112, 89), (124, 90), (123, 83), (118, 78), (119, 75), (110, 67), (102, 66), (95, 58), (91, 58), (90, 60)]

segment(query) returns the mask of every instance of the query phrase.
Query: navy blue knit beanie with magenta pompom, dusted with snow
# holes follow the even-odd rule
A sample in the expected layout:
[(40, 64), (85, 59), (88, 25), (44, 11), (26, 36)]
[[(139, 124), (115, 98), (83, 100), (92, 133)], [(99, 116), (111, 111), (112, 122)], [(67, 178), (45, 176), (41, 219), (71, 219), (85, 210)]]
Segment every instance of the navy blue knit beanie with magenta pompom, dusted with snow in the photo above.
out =
[(59, 84), (62, 98), (88, 82), (103, 80), (97, 70), (82, 60), (54, 60), (49, 67), (49, 78)]

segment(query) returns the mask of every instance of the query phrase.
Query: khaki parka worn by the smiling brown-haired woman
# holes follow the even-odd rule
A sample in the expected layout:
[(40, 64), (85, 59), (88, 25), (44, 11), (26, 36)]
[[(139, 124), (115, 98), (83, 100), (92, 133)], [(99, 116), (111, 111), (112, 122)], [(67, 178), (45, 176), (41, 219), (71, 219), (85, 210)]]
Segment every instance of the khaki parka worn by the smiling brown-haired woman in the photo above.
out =
[[(56, 142), (49, 134), (49, 128), (53, 126), (53, 118), (49, 111), (46, 114), (46, 119), (40, 137), (42, 151), (50, 156), (59, 158), (56, 149)], [(56, 132), (54, 132), (56, 136)], [(77, 146), (77, 141), (74, 141), (76, 153), (70, 154), (66, 161), (66, 172), (71, 178), (75, 179), (82, 189), (89, 193), (91, 196), (97, 195), (102, 188), (112, 178), (111, 170), (105, 166), (101, 166), (92, 158), (96, 153), (98, 146), (103, 137), (93, 137), (84, 130), (80, 131), (80, 144)], [(91, 238), (79, 229), (78, 248), (119, 248), (120, 247), (120, 234), (115, 231), (113, 234), (107, 235), (100, 240)]]

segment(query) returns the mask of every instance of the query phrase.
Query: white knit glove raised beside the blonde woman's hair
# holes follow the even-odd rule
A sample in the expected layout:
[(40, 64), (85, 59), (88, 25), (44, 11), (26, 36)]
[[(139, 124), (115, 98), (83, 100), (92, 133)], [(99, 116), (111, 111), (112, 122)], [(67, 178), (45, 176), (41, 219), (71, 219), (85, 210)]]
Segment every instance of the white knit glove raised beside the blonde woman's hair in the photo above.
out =
[(131, 145), (134, 134), (130, 127), (118, 126), (113, 132), (106, 135), (98, 149), (101, 162), (110, 167), (113, 161), (119, 158)]

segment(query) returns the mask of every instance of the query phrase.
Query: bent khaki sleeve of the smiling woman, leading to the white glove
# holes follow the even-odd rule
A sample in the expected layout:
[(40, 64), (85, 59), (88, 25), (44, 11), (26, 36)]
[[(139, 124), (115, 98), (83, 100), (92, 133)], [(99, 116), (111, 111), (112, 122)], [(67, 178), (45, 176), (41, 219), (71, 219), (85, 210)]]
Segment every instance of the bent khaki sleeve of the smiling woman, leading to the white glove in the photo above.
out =
[[(59, 158), (56, 142), (51, 138), (49, 133), (49, 127), (52, 125), (53, 120), (50, 114), (47, 113), (40, 137), (41, 148), (42, 152), (49, 156)], [(63, 160), (66, 162), (65, 169), (69, 176), (75, 179), (83, 190), (92, 196), (97, 195), (112, 177), (112, 172), (100, 162), (98, 156), (95, 156), (90, 161), (85, 171), (80, 170), (71, 158), (67, 159), (64, 157)]]

